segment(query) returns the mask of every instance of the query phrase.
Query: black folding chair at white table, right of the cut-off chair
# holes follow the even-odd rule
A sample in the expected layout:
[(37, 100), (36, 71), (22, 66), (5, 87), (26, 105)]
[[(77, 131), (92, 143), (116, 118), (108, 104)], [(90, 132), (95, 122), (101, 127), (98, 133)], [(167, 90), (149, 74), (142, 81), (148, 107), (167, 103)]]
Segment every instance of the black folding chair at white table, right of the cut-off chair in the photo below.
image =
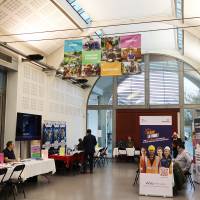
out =
[(15, 195), (15, 189), (18, 192), (18, 189), (21, 187), (22, 192), (24, 194), (24, 198), (26, 198), (26, 194), (25, 194), (25, 190), (24, 190), (24, 181), (21, 177), (22, 172), (24, 171), (25, 165), (24, 164), (20, 164), (15, 166), (15, 168), (13, 169), (10, 178), (8, 180), (8, 187), (9, 190), (11, 191), (11, 193), (13, 194), (13, 198), (14, 200), (16, 199), (16, 195)]

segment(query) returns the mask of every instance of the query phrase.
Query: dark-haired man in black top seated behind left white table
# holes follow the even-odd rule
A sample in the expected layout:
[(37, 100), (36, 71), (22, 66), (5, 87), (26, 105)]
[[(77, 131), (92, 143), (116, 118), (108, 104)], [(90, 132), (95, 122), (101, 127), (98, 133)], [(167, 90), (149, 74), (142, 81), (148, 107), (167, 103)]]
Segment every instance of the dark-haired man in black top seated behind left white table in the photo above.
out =
[(6, 148), (3, 150), (4, 153), (4, 162), (15, 162), (16, 157), (14, 153), (14, 144), (12, 141), (8, 141), (6, 144)]

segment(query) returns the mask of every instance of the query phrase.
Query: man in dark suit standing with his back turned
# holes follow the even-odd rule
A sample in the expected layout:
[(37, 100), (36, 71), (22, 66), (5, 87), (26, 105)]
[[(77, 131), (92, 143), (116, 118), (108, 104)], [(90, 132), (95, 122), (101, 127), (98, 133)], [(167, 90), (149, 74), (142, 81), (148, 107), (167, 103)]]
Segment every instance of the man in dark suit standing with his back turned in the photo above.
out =
[[(85, 160), (89, 162), (90, 173), (93, 173), (93, 157), (95, 153), (95, 146), (97, 144), (96, 138), (91, 133), (91, 129), (87, 129), (87, 135), (83, 139), (83, 146), (85, 150)], [(84, 168), (86, 172), (86, 166)]]

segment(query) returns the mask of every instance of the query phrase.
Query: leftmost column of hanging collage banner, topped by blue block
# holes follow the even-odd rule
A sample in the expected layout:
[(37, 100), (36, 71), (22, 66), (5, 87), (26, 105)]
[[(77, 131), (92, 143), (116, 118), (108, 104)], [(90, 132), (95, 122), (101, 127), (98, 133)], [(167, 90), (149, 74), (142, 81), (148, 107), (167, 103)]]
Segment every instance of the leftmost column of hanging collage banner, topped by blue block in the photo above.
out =
[(65, 40), (64, 43), (64, 78), (81, 76), (82, 40)]

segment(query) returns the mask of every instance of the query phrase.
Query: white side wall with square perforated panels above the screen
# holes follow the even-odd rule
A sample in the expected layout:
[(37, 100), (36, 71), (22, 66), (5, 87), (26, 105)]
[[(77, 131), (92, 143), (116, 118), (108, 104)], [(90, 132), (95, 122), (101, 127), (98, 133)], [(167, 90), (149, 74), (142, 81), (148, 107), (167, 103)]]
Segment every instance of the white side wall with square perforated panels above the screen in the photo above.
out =
[(40, 114), (43, 120), (67, 122), (67, 145), (85, 135), (84, 93), (81, 88), (48, 76), (30, 63), (18, 69), (17, 111)]

